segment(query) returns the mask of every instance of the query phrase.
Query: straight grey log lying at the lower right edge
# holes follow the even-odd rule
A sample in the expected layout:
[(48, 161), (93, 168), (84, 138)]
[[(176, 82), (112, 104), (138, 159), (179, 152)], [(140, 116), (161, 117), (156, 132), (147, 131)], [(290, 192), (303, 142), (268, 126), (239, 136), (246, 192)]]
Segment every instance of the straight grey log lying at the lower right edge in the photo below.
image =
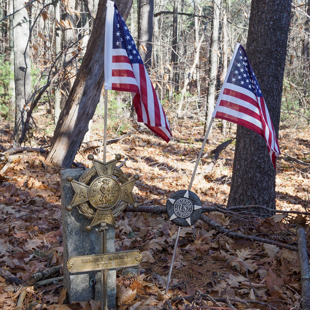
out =
[(310, 268), (305, 229), (297, 227), (298, 257), (300, 266), (301, 308), (310, 310)]

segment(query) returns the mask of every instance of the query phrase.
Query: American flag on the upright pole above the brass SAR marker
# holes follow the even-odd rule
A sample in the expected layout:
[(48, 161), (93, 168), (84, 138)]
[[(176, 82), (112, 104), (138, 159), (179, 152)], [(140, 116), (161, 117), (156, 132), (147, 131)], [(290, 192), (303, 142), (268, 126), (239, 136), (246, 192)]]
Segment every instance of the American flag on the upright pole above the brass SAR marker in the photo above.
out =
[(104, 89), (131, 92), (138, 122), (166, 142), (171, 139), (169, 122), (135, 42), (116, 4), (110, 0), (105, 22), (104, 76)]

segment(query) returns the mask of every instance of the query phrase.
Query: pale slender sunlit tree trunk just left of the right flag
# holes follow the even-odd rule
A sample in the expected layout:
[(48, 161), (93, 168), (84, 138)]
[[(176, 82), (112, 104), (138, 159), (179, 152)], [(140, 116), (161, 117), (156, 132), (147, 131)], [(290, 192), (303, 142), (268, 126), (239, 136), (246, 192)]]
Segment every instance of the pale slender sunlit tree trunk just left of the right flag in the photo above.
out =
[[(206, 101), (206, 122), (204, 132), (206, 132), (211, 121), (212, 112), (214, 110), (215, 101), (215, 86), (216, 75), (218, 71), (218, 52), (219, 52), (219, 8), (221, 0), (213, 0), (213, 14), (211, 21), (211, 42), (210, 42), (210, 56), (209, 56), (209, 82), (208, 82), (208, 95)], [(210, 130), (210, 135), (212, 128)]]

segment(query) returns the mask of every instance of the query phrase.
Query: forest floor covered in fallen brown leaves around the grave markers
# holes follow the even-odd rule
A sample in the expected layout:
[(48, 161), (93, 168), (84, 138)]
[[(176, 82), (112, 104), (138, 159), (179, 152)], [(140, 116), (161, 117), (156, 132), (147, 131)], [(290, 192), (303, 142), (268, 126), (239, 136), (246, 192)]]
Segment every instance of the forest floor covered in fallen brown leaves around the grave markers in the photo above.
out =
[[(202, 138), (203, 126), (190, 118), (171, 125), (174, 137), (168, 144), (149, 131), (132, 128), (131, 135), (107, 146), (108, 160), (121, 154), (121, 169), (140, 175), (134, 187), (139, 208), (160, 209), (172, 192), (188, 189), (202, 144), (195, 139)], [(208, 139), (192, 191), (213, 221), (198, 220), (195, 236), (193, 226), (181, 229), (168, 294), (164, 288), (178, 227), (164, 213), (124, 212), (117, 217), (116, 250), (140, 250), (143, 258), (138, 273), (125, 277), (122, 270), (117, 271), (119, 310), (301, 309), (296, 227), (305, 226), (310, 250), (309, 128), (279, 133), (279, 211), (270, 218), (245, 211), (237, 214), (226, 206), (235, 145), (224, 148), (215, 164), (211, 151), (235, 135), (235, 126), (224, 138), (216, 125)], [(91, 139), (102, 137), (98, 131)], [(108, 139), (114, 137), (108, 132)], [(11, 147), (9, 132), (3, 131), (0, 138), (4, 148)], [(92, 166), (87, 159), (90, 153), (103, 160), (102, 147), (80, 148), (75, 162)], [(66, 303), (62, 267), (48, 283), (34, 283), (31, 277), (64, 263), (60, 169), (47, 166), (45, 155), (35, 152), (2, 152), (1, 156), (0, 169), (8, 158), (11, 163), (0, 175), (0, 309), (99, 309), (95, 301)], [(216, 230), (215, 222), (226, 231)], [(233, 238), (230, 233), (266, 242)]]

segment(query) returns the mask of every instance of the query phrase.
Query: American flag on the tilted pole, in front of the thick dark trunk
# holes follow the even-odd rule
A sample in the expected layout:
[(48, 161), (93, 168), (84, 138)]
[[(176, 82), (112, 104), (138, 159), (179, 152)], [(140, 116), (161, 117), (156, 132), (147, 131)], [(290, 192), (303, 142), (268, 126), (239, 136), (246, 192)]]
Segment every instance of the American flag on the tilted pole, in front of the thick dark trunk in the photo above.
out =
[(277, 136), (265, 100), (244, 47), (237, 43), (212, 117), (247, 127), (267, 142), (269, 155), (276, 169), (280, 155)]

